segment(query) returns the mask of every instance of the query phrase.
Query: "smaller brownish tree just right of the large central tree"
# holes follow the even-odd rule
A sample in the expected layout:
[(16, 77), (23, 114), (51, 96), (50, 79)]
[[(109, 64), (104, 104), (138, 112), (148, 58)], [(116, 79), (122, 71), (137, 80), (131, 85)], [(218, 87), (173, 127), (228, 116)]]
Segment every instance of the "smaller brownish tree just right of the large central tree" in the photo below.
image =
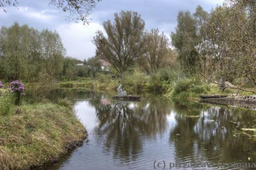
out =
[(165, 65), (168, 55), (168, 38), (158, 29), (152, 29), (145, 34), (145, 54), (140, 58), (140, 65), (147, 74), (152, 74)]

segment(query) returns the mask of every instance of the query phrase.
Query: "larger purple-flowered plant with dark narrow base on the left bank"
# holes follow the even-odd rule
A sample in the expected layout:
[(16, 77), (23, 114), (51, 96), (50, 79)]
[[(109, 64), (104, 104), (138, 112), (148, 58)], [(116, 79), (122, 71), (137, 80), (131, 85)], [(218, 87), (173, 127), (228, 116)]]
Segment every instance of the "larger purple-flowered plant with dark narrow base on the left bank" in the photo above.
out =
[(14, 94), (15, 105), (19, 105), (22, 95), (25, 94), (24, 93), (25, 85), (22, 82), (15, 80), (10, 83), (10, 90)]

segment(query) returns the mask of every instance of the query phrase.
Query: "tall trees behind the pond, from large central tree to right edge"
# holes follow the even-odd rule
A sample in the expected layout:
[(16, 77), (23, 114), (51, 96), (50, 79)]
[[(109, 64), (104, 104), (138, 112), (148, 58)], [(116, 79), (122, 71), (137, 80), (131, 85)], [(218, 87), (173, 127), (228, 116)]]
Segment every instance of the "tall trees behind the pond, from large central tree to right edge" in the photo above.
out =
[[(146, 31), (137, 12), (114, 16), (113, 22), (103, 22), (106, 34), (98, 31), (94, 37), (96, 55), (108, 60), (120, 75), (136, 64), (148, 74), (170, 66), (164, 63), (175, 56), (168, 54), (164, 34)], [(198, 6), (193, 14), (180, 11), (177, 22), (170, 38), (178, 52), (178, 68), (185, 74), (207, 82), (256, 85), (255, 1), (227, 0), (210, 12)]]

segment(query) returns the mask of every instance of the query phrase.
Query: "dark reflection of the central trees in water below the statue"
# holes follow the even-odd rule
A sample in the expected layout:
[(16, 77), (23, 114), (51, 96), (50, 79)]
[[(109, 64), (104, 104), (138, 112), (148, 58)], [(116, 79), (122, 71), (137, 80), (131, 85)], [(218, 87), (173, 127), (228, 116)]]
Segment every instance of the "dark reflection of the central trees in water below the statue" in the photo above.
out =
[[(121, 161), (135, 160), (142, 152), (144, 140), (150, 140), (166, 128), (168, 105), (161, 102), (112, 101), (102, 105), (94, 100), (99, 126), (96, 141), (104, 141), (104, 152)], [(168, 109), (167, 109), (168, 108)], [(104, 140), (103, 140), (104, 139)]]

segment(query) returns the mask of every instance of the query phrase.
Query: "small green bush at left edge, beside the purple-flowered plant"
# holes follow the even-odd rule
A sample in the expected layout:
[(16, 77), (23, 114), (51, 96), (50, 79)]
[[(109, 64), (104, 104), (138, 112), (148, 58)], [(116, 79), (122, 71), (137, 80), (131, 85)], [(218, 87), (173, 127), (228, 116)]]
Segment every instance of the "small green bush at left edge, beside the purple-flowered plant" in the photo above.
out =
[(10, 113), (11, 108), (13, 107), (14, 98), (13, 95), (9, 92), (3, 93), (0, 96), (0, 114), (7, 115)]

